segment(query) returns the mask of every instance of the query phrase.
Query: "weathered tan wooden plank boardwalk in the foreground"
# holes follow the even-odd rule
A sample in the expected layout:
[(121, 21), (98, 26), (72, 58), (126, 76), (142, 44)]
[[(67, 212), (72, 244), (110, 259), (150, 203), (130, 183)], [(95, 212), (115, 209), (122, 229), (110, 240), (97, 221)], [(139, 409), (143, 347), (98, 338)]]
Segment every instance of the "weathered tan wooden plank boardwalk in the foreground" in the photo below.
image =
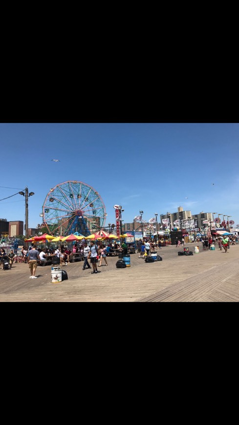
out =
[[(189, 244), (194, 251), (196, 244)], [(116, 269), (117, 257), (108, 257), (98, 275), (82, 270), (83, 262), (64, 269), (68, 280), (51, 283), (51, 267), (38, 267), (29, 279), (27, 264), (0, 270), (1, 302), (235, 302), (239, 301), (239, 245), (224, 251), (202, 251), (178, 256), (178, 249), (158, 250), (163, 261), (147, 264), (130, 255), (131, 267)]]

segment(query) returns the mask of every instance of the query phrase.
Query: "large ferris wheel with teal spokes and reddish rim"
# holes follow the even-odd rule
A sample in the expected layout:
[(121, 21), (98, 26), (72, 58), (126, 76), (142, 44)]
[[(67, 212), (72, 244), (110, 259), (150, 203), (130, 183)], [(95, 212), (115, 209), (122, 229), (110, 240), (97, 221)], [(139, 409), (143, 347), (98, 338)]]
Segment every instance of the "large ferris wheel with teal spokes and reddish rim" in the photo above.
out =
[(105, 225), (107, 213), (95, 189), (86, 183), (70, 180), (50, 189), (42, 215), (50, 234), (66, 236), (78, 232), (87, 236)]

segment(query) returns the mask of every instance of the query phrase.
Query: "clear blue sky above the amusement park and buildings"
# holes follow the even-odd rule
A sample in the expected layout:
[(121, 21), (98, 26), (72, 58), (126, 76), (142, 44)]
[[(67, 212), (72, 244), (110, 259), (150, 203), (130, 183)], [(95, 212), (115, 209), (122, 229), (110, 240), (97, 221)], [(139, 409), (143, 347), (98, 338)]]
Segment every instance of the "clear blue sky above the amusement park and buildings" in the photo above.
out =
[[(231, 215), (236, 225), (238, 142), (239, 124), (0, 124), (0, 186), (17, 188), (0, 188), (0, 199), (28, 186), (35, 228), (50, 188), (78, 180), (100, 193), (106, 225), (115, 223), (114, 204), (126, 223), (141, 209), (148, 221), (181, 205)], [(0, 201), (0, 218), (24, 221), (24, 212), (19, 194)]]

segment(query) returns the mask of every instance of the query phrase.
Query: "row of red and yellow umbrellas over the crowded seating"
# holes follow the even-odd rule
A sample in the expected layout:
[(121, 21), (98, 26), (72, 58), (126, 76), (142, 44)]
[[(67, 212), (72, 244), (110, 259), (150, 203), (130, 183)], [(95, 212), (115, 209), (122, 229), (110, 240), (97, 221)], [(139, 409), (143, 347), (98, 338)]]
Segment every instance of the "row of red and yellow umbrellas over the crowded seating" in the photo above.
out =
[(51, 234), (42, 234), (41, 236), (34, 236), (31, 237), (30, 239), (24, 239), (25, 242), (59, 242), (62, 241), (64, 242), (66, 241), (74, 241), (74, 240), (82, 240), (82, 239), (99, 239), (99, 240), (105, 240), (105, 239), (118, 239), (120, 237), (130, 237), (132, 236), (131, 234), (121, 234), (120, 236), (115, 236), (114, 234), (108, 234), (104, 231), (101, 232), (96, 232), (93, 234), (90, 234), (89, 236), (78, 236), (77, 234), (69, 234), (68, 236), (52, 236)]

